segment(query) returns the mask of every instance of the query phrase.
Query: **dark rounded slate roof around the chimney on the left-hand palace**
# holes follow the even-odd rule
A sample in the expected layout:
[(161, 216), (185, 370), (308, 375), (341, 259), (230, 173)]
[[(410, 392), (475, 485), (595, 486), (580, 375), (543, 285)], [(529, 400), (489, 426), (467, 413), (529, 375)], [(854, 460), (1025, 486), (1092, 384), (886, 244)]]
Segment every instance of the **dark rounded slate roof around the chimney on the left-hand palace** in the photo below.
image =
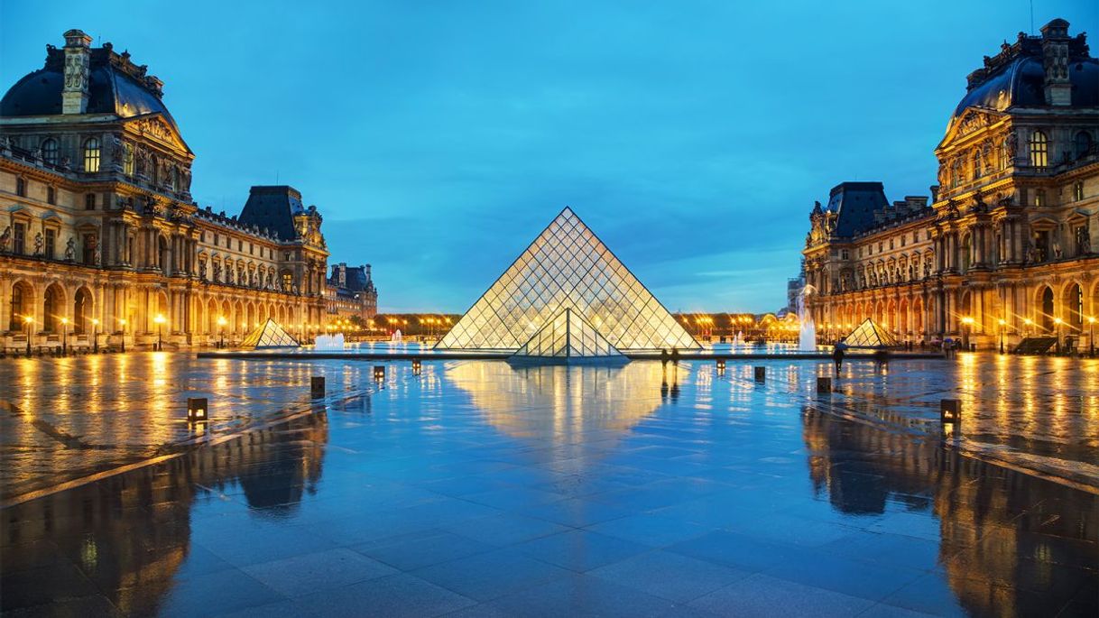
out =
[[(90, 51), (88, 113), (134, 118), (159, 113), (178, 132), (176, 120), (160, 100), (159, 80), (143, 77), (145, 68), (111, 47)], [(64, 49), (47, 47), (46, 64), (15, 82), (0, 99), (0, 115), (53, 115), (62, 113)]]

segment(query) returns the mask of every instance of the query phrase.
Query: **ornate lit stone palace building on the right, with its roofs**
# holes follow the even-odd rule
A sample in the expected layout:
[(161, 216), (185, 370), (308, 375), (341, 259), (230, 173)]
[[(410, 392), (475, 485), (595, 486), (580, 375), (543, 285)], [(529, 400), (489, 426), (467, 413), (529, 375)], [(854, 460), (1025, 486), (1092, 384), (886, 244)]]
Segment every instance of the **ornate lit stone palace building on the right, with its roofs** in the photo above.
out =
[(1089, 345), (1099, 60), (1085, 35), (1054, 20), (986, 56), (935, 156), (930, 203), (889, 203), (880, 183), (843, 183), (813, 208), (802, 253), (818, 332), (842, 336), (873, 318), (912, 342), (1056, 335)]

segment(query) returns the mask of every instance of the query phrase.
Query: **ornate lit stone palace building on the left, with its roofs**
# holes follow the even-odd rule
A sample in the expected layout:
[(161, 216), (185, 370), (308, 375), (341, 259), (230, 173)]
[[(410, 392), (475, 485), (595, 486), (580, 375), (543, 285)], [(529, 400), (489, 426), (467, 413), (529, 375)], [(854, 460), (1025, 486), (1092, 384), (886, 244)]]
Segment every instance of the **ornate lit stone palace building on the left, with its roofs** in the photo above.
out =
[(163, 82), (79, 30), (0, 100), (0, 340), (5, 347), (204, 345), (325, 311), (322, 218), (291, 187), (240, 216), (191, 199), (195, 154)]

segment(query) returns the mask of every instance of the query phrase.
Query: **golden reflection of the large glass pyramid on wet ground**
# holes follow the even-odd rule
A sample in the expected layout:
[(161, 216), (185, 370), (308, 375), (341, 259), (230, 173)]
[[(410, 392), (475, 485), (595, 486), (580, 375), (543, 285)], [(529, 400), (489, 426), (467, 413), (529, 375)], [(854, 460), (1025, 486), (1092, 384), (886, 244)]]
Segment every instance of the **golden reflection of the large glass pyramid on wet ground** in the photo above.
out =
[[(622, 434), (636, 426), (668, 397), (662, 397), (671, 390), (668, 383), (685, 379), (688, 372), (664, 373), (659, 364), (645, 362), (615, 367), (477, 362), (447, 368), (446, 379), (508, 435), (573, 443), (590, 432)], [(678, 394), (678, 384), (674, 388)]]

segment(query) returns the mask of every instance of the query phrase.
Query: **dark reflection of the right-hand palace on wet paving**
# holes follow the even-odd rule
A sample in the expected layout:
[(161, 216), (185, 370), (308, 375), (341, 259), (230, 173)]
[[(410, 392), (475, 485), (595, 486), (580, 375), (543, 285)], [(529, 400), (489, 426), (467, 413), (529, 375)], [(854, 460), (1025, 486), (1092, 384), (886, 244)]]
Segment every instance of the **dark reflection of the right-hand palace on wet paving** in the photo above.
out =
[(813, 487), (834, 509), (937, 522), (926, 538), (937, 538), (937, 564), (966, 615), (1029, 615), (1042, 598), (1056, 608), (1099, 581), (1099, 496), (811, 408), (802, 421)]

